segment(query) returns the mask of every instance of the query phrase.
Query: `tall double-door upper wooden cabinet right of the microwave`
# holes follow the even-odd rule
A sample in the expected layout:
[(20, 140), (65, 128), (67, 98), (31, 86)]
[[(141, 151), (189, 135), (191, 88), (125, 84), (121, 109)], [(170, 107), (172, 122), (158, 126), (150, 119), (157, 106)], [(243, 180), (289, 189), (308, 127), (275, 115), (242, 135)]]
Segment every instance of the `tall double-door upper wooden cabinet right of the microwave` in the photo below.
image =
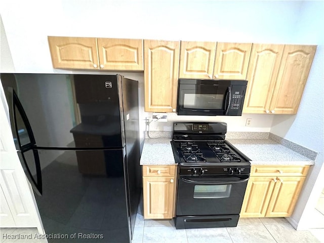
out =
[(254, 44), (245, 113), (296, 114), (316, 46)]

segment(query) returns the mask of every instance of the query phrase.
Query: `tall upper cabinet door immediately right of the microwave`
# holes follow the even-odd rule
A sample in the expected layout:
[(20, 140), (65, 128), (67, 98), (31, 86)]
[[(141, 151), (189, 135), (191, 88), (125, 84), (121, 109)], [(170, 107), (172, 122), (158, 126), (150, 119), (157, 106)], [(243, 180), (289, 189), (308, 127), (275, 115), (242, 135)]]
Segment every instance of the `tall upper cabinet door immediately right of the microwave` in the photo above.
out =
[(253, 44), (243, 112), (269, 112), (283, 51), (284, 45)]

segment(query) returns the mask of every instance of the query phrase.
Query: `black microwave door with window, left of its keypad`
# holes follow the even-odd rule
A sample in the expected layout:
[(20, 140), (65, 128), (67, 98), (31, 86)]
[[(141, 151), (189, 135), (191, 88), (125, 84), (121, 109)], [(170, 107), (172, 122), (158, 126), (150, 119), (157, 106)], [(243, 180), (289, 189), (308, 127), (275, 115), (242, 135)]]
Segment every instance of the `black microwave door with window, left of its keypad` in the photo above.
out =
[(179, 80), (178, 115), (225, 115), (230, 102), (230, 82)]

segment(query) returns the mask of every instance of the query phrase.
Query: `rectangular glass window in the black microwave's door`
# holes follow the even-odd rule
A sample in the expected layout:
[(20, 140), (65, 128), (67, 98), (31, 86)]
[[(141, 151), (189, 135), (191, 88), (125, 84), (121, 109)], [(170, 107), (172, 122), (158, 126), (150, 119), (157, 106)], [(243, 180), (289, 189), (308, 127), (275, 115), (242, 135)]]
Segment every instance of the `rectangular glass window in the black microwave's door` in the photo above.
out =
[(184, 94), (183, 108), (222, 109), (223, 94)]

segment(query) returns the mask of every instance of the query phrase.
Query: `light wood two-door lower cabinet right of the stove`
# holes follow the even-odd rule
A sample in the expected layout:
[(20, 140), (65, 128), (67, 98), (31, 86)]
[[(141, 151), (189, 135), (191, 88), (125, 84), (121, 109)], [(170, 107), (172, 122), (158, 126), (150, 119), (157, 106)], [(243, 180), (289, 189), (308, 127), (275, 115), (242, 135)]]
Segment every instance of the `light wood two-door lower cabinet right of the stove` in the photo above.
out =
[(291, 216), (308, 169), (309, 166), (252, 166), (240, 217)]

